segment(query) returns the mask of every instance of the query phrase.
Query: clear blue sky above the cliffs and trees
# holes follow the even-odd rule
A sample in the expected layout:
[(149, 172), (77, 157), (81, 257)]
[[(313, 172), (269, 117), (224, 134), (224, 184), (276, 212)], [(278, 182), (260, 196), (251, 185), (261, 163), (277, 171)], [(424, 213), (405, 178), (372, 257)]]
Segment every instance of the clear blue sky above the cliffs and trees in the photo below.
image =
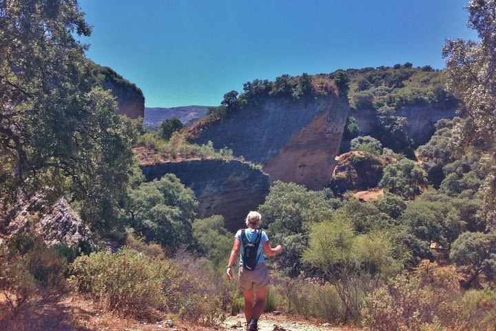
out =
[(217, 106), (281, 74), (411, 62), (444, 68), (446, 38), (475, 39), (468, 0), (80, 0), (96, 63), (143, 90), (145, 106)]

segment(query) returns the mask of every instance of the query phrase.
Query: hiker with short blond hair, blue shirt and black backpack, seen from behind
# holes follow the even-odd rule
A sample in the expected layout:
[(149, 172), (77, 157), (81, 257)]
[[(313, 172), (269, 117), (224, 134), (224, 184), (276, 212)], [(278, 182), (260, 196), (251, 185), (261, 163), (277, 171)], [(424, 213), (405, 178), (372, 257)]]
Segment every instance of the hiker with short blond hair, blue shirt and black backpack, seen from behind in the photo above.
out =
[(231, 266), (241, 252), (238, 279), (243, 297), (245, 297), (245, 317), (249, 331), (258, 330), (258, 319), (265, 309), (267, 285), (270, 283), (269, 270), (265, 265), (262, 248), (269, 256), (282, 250), (281, 245), (272, 248), (265, 231), (257, 230), (260, 227), (261, 218), (258, 212), (248, 213), (245, 221), (247, 228), (236, 232), (229, 263), (227, 263), (227, 278), (231, 280), (233, 277)]

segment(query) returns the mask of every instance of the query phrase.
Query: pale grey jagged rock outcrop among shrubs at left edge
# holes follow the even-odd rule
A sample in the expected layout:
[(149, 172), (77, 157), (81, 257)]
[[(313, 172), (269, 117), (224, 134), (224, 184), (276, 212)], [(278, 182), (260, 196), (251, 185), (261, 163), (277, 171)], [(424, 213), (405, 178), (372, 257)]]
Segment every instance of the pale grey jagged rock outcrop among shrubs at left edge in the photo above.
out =
[(19, 202), (3, 217), (0, 234), (10, 237), (23, 231), (40, 235), (47, 245), (77, 248), (82, 241), (92, 245), (92, 233), (65, 198), (53, 205), (46, 205), (39, 197)]

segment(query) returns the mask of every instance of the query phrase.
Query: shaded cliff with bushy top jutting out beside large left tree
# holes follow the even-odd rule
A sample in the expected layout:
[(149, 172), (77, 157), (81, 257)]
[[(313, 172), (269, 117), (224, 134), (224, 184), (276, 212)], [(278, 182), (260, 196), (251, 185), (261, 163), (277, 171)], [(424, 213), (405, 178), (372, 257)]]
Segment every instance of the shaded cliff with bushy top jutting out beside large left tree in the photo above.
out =
[(100, 81), (105, 90), (110, 90), (118, 102), (118, 114), (131, 119), (145, 116), (145, 97), (143, 92), (108, 67), (100, 67)]

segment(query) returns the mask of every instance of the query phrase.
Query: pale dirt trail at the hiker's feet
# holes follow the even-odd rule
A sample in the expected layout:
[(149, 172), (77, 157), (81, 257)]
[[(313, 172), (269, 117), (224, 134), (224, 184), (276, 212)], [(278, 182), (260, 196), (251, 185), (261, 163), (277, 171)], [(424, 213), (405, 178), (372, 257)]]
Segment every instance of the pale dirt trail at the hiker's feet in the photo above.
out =
[[(223, 328), (230, 330), (245, 330), (245, 315), (229, 316), (223, 323)], [(263, 314), (258, 321), (259, 331), (359, 331), (362, 329), (340, 327), (318, 321), (289, 317), (285, 314)]]

